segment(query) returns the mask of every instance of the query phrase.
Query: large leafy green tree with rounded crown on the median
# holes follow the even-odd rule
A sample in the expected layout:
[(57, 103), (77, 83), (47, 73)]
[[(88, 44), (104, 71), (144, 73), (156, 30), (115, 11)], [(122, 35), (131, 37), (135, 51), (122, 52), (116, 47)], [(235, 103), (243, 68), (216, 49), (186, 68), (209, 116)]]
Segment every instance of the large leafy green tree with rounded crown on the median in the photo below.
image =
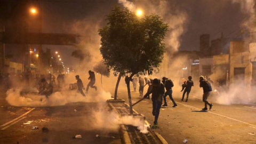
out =
[(151, 75), (159, 67), (165, 52), (162, 41), (168, 25), (156, 14), (139, 19), (127, 7), (114, 7), (107, 20), (107, 26), (99, 29), (100, 52), (103, 62), (115, 73), (130, 75), (125, 79), (132, 114), (131, 78), (134, 75)]

